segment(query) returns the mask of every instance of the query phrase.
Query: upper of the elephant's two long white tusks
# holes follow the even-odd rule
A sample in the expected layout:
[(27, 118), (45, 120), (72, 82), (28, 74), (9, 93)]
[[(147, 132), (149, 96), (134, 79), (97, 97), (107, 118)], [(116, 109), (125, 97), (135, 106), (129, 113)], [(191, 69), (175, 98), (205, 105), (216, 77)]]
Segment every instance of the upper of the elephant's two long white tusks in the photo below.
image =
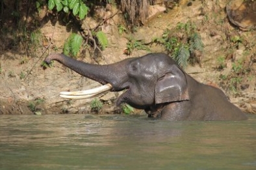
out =
[(108, 83), (106, 85), (103, 85), (101, 87), (96, 87), (94, 89), (74, 91), (74, 92), (60, 92), (60, 94), (70, 95), (70, 96), (81, 96), (81, 95), (88, 95), (88, 94), (99, 94), (101, 92), (105, 92), (107, 90), (110, 90), (111, 88), (112, 88), (112, 85), (110, 85), (110, 83)]

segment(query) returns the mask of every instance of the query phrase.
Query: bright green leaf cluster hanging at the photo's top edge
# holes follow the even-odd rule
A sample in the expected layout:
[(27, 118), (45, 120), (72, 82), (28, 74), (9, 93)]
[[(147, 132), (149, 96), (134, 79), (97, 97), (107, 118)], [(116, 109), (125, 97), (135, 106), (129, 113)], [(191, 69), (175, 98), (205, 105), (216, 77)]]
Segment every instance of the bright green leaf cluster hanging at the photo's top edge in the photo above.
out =
[(53, 10), (57, 9), (57, 12), (63, 10), (64, 12), (72, 12), (74, 16), (79, 16), (79, 19), (84, 19), (87, 16), (89, 8), (81, 0), (49, 0), (48, 8)]

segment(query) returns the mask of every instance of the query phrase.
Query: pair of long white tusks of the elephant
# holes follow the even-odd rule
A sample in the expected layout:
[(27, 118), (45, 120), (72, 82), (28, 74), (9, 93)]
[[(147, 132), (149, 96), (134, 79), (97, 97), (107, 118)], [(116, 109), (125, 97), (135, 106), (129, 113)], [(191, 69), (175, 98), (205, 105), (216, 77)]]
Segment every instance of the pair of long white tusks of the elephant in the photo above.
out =
[[(106, 92), (112, 88), (113, 88), (112, 85), (110, 85), (110, 83), (107, 83), (101, 87), (96, 87), (94, 89), (73, 91), (73, 92), (60, 92), (60, 97), (67, 98), (67, 99), (93, 98), (94, 96), (102, 94), (103, 92)], [(127, 89), (129, 89), (129, 88), (127, 88)]]

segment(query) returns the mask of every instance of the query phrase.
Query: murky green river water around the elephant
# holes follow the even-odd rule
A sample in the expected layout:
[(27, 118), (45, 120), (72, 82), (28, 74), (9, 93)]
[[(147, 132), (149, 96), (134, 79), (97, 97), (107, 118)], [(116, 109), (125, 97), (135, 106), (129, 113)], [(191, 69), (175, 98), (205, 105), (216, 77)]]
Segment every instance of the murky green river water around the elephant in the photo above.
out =
[(0, 115), (0, 169), (256, 169), (256, 115), (241, 122)]

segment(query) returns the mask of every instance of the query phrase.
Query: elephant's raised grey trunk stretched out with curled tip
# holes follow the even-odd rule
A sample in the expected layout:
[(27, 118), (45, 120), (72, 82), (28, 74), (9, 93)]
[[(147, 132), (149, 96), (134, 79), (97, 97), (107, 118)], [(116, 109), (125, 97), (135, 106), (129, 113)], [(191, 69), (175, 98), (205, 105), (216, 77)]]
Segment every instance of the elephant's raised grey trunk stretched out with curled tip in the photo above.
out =
[(127, 81), (127, 73), (125, 71), (126, 60), (110, 65), (95, 65), (78, 61), (64, 54), (51, 54), (45, 58), (47, 64), (51, 63), (51, 60), (56, 60), (78, 74), (103, 85), (110, 83), (113, 87), (112, 90), (125, 89), (125, 87), (120, 87), (120, 85), (123, 85)]

